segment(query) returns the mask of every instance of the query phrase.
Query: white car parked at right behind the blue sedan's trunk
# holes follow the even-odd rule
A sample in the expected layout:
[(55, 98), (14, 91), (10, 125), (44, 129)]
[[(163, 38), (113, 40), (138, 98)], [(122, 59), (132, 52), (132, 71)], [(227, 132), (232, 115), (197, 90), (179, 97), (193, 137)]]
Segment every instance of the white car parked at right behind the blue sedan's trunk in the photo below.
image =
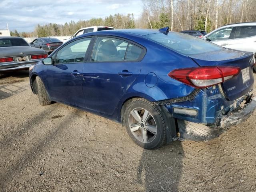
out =
[(203, 39), (225, 48), (253, 52), (256, 62), (256, 22), (225, 25), (206, 34)]

